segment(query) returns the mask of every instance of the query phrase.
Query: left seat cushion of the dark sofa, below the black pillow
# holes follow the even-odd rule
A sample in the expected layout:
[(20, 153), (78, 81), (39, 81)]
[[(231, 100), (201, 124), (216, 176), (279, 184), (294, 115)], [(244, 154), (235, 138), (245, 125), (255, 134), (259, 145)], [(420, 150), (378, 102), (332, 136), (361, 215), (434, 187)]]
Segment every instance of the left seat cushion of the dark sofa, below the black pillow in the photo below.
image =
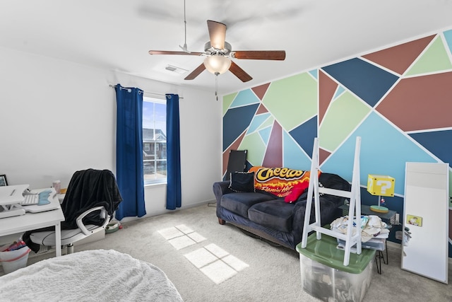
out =
[(239, 214), (242, 217), (248, 218), (249, 207), (257, 204), (258, 202), (266, 202), (267, 200), (274, 199), (266, 194), (258, 192), (249, 193), (228, 193), (221, 197), (220, 205), (225, 209), (232, 211), (232, 213)]

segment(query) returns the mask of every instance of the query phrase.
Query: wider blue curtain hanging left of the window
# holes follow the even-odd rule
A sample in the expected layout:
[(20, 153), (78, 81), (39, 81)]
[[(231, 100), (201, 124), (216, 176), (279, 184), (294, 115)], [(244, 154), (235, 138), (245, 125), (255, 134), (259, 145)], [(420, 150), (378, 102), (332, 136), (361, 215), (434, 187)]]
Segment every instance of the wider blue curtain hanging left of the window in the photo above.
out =
[(144, 216), (143, 91), (114, 86), (117, 100), (116, 171), (123, 201), (116, 219)]

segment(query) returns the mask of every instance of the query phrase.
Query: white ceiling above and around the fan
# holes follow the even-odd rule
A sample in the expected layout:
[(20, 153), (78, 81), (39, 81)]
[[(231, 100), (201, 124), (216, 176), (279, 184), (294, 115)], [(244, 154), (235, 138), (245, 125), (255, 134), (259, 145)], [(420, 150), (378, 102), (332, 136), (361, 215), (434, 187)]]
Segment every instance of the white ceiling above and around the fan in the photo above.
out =
[[(148, 54), (184, 45), (184, 0), (0, 0), (0, 7), (0, 47), (215, 91), (208, 71), (184, 81), (203, 57)], [(451, 29), (451, 16), (452, 0), (186, 0), (186, 43), (203, 52), (210, 19), (227, 25), (232, 50), (286, 51), (282, 62), (235, 59), (254, 79), (222, 74), (224, 94)]]

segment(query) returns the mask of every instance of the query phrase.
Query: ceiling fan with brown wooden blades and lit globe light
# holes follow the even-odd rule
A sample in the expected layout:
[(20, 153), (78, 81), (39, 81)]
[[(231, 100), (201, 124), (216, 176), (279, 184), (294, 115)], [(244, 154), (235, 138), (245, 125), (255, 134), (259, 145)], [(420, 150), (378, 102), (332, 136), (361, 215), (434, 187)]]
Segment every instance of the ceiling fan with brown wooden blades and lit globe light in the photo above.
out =
[(186, 47), (183, 52), (172, 52), (165, 50), (150, 50), (149, 54), (180, 54), (189, 56), (205, 56), (203, 64), (199, 65), (185, 80), (193, 80), (205, 69), (218, 76), (226, 71), (231, 71), (242, 82), (250, 81), (251, 76), (240, 68), (231, 59), (261, 59), (261, 60), (284, 60), (284, 50), (232, 50), (231, 45), (225, 41), (226, 25), (217, 21), (207, 21), (210, 41), (204, 45), (204, 52), (189, 52)]

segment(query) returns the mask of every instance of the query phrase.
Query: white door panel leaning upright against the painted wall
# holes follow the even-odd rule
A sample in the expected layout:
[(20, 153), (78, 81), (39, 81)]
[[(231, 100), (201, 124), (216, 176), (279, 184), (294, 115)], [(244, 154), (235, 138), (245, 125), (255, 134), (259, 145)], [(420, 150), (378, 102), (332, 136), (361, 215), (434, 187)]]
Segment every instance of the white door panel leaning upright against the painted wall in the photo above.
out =
[(448, 283), (448, 164), (406, 163), (402, 269)]

